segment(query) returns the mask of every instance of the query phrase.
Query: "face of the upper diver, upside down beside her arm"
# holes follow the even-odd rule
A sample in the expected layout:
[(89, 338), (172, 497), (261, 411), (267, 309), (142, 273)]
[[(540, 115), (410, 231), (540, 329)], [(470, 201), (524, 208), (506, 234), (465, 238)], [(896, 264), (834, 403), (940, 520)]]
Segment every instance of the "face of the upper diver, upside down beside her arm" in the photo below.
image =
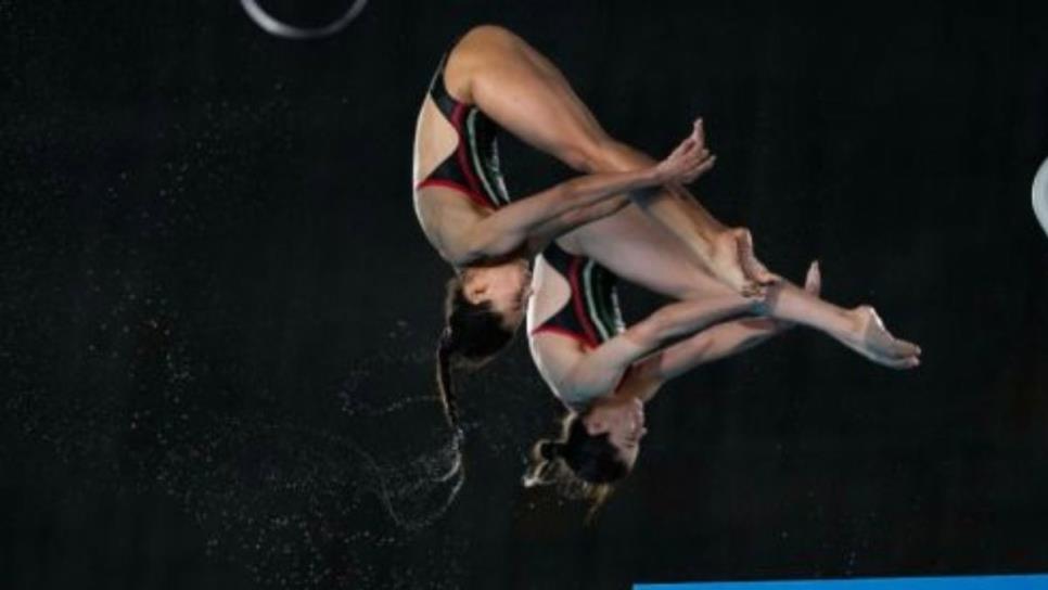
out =
[(503, 326), (513, 331), (524, 321), (525, 304), (532, 295), (532, 271), (523, 258), (472, 267), (462, 274), (462, 288), (474, 305), (490, 302), (491, 309), (503, 318)]

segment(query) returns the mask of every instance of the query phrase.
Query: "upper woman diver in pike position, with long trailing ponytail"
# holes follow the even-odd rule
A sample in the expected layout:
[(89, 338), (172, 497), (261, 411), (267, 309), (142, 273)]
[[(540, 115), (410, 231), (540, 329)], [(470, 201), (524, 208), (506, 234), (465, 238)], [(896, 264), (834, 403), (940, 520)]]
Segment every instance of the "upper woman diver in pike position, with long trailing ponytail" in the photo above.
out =
[[(500, 128), (591, 176), (511, 200), (499, 170)], [(464, 35), (433, 78), (414, 144), (416, 214), (458, 271), (437, 349), (442, 382), (452, 361), (482, 364), (512, 338), (524, 317), (529, 255), (627, 205), (616, 193), (661, 187), (629, 197), (733, 290), (756, 293), (770, 283), (749, 232), (721, 226), (682, 188), (715, 161), (701, 129), (686, 141), (693, 144), (681, 149), (700, 161), (694, 168), (667, 170), (673, 165), (664, 163), (659, 170), (652, 158), (612, 141), (557, 68), (522, 39), (495, 26)]]

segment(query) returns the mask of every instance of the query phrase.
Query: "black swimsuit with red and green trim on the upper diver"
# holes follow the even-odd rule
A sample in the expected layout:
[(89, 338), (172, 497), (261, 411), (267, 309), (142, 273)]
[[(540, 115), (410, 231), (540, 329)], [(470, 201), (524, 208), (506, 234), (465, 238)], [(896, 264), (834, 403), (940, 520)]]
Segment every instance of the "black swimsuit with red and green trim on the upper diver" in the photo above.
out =
[(510, 196), (499, 168), (498, 134), (501, 128), (475, 105), (461, 103), (448, 93), (444, 84), (447, 59), (445, 55), (440, 60), (430, 82), (430, 97), (455, 127), (459, 145), (416, 189), (453, 189), (486, 209), (509, 205)]

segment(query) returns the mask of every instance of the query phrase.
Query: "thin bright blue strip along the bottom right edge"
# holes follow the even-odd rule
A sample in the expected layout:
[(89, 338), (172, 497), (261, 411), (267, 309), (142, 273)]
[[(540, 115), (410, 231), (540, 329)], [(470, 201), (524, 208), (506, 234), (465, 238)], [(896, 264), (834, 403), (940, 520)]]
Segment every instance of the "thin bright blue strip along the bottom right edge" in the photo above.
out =
[(634, 590), (1048, 590), (1045, 576), (638, 583)]

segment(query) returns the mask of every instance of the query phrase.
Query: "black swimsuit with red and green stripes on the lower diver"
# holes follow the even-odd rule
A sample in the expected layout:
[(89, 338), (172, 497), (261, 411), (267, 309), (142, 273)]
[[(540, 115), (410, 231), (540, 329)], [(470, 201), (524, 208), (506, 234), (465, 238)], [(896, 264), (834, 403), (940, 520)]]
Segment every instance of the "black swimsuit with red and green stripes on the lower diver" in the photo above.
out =
[(615, 291), (617, 278), (610, 270), (585, 256), (568, 254), (555, 243), (540, 256), (567, 280), (572, 296), (560, 311), (533, 329), (532, 334), (555, 332), (597, 348), (626, 329)]

